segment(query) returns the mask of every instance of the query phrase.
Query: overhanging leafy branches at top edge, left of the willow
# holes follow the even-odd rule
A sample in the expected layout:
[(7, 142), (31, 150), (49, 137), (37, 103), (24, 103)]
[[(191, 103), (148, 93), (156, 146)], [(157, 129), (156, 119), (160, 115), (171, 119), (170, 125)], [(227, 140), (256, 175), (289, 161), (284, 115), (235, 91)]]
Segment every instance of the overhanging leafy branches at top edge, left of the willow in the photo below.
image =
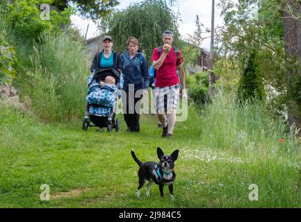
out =
[(76, 5), (83, 17), (96, 21), (100, 17), (108, 15), (120, 2), (117, 0), (54, 0), (51, 4), (63, 11), (72, 6), (72, 3)]

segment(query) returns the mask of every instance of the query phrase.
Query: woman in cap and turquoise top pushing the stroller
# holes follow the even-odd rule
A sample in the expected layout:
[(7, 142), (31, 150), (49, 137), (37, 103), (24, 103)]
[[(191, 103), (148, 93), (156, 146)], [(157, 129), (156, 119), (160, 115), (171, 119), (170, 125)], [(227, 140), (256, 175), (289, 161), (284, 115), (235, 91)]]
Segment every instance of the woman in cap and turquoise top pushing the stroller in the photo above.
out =
[[(106, 35), (102, 38), (102, 51), (97, 52), (94, 56), (90, 71), (93, 73), (99, 68), (113, 68), (121, 71), (122, 58), (120, 53), (112, 50), (113, 41), (112, 37)], [(98, 60), (97, 60), (98, 58)]]

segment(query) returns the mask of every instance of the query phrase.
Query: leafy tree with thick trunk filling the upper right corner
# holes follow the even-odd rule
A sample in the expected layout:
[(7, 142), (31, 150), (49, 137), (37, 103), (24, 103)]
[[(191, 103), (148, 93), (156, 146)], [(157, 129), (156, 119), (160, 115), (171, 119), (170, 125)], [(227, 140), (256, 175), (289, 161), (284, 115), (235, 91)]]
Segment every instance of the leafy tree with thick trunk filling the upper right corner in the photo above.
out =
[(220, 51), (243, 65), (252, 46), (259, 44), (257, 72), (274, 97), (268, 102), (275, 105), (277, 99), (279, 106), (274, 110), (284, 113), (288, 126), (300, 128), (300, 1), (240, 0), (234, 4), (222, 0), (220, 6), (226, 24), (218, 33)]

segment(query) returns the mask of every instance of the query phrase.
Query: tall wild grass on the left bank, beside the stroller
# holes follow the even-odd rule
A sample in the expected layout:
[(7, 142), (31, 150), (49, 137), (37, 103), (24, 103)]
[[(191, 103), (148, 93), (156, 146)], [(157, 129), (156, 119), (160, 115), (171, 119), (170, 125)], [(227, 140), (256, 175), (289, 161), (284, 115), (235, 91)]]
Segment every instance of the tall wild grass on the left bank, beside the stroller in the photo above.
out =
[(39, 42), (19, 44), (16, 85), (28, 94), (41, 119), (78, 119), (85, 109), (90, 56), (83, 42), (62, 34), (44, 33)]

